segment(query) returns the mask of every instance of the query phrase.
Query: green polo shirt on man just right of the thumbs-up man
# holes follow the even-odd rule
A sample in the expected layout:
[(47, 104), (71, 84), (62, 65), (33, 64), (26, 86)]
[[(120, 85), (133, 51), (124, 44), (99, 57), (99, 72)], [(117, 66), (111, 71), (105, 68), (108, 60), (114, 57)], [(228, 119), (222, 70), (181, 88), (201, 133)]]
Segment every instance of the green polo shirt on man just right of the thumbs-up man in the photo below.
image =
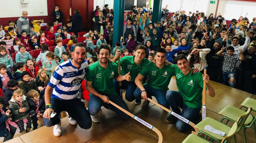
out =
[[(122, 67), (121, 75), (125, 75), (130, 71), (131, 81), (134, 81), (138, 73), (143, 68), (143, 66), (145, 66), (150, 62), (150, 60), (148, 60), (147, 58), (144, 58), (143, 61), (137, 66), (134, 62), (134, 58), (135, 56), (125, 56), (120, 59), (120, 63)], [(115, 63), (118, 64), (118, 61), (116, 61)]]

